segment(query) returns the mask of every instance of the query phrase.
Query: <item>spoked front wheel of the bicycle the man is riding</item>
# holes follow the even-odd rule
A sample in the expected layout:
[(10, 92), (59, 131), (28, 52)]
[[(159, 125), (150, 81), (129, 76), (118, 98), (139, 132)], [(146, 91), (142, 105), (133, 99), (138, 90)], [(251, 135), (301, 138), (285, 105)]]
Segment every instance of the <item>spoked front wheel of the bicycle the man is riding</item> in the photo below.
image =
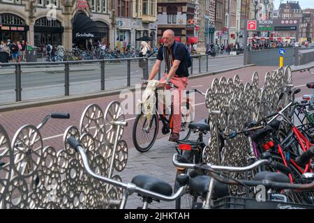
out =
[(154, 145), (158, 134), (158, 116), (154, 114), (150, 121), (145, 114), (138, 114), (133, 125), (133, 144), (137, 151), (144, 153)]

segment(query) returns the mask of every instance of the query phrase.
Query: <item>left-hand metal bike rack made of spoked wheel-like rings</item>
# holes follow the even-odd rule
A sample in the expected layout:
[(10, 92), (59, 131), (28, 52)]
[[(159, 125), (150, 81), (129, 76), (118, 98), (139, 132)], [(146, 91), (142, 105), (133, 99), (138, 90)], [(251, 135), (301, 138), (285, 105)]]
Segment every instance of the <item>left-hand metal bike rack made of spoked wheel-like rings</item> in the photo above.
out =
[(80, 119), (80, 130), (69, 126), (63, 148), (43, 148), (43, 138), (33, 125), (22, 126), (13, 137), (0, 125), (0, 208), (117, 208), (123, 190), (105, 184), (84, 171), (82, 158), (67, 143), (75, 137), (85, 148), (91, 169), (114, 180), (123, 171), (128, 146), (122, 140), (124, 111), (111, 102), (105, 115), (89, 105)]

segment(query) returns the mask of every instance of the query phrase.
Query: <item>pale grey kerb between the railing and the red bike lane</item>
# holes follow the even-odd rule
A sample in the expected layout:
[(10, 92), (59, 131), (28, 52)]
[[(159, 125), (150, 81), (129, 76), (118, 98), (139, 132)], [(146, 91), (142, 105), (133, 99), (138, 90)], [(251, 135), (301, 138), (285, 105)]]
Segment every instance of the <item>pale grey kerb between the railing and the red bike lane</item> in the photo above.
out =
[[(198, 75), (191, 75), (189, 79), (196, 79), (200, 77), (207, 77), (207, 76), (212, 76), (212, 75), (218, 75), (223, 72), (229, 72), (232, 70), (239, 70), (242, 68), (247, 68), (255, 66), (255, 64), (250, 64), (246, 66), (240, 66), (236, 68), (230, 68), (230, 69), (225, 69), (225, 70), (218, 70), (215, 72), (209, 72), (209, 73), (202, 73)], [(122, 89), (114, 89), (111, 91), (98, 91), (96, 93), (89, 93), (89, 94), (84, 94), (84, 95), (70, 95), (70, 96), (62, 96), (61, 98), (49, 98), (49, 99), (43, 99), (43, 100), (31, 100), (31, 101), (24, 101), (24, 102), (10, 102), (4, 105), (0, 105), (0, 112), (10, 112), (13, 110), (18, 110), (18, 109), (27, 109), (31, 107), (42, 107), (42, 106), (47, 106), (47, 105), (57, 105), (61, 103), (66, 103), (66, 102), (76, 102), (80, 100), (89, 100), (93, 98), (101, 98), (101, 97), (106, 97), (106, 96), (112, 96), (112, 95), (118, 95), (122, 90), (128, 90), (128, 91), (135, 91), (135, 87), (124, 87)]]

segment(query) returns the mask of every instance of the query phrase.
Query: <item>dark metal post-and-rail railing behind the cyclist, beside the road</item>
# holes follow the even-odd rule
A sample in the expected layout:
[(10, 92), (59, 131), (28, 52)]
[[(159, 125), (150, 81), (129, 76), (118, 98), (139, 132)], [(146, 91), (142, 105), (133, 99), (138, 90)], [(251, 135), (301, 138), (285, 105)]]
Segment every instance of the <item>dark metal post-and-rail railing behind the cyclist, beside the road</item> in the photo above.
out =
[[(209, 72), (209, 55), (193, 55), (192, 66), (189, 68), (190, 75), (197, 73)], [(131, 62), (135, 61), (137, 63), (142, 63), (143, 78), (148, 79), (149, 77), (149, 63), (156, 60), (156, 58), (128, 58), (128, 59), (100, 59), (100, 60), (88, 60), (88, 61), (60, 61), (60, 62), (28, 62), (28, 63), (0, 63), (1, 67), (4, 68), (15, 68), (15, 101), (22, 101), (22, 70), (23, 68), (35, 66), (35, 68), (53, 68), (55, 66), (64, 66), (64, 95), (70, 95), (70, 66), (82, 65), (82, 64), (99, 64), (100, 65), (100, 91), (105, 91), (105, 67), (108, 63), (126, 63), (126, 87), (131, 85)], [(141, 62), (140, 62), (141, 61)], [(196, 68), (195, 68), (196, 67)], [(195, 69), (198, 70), (195, 72)], [(0, 70), (1, 71), (1, 70)], [(37, 72), (37, 71), (35, 71)], [(40, 70), (38, 70), (40, 72)], [(158, 78), (161, 77), (161, 72), (163, 72), (163, 66), (160, 68), (158, 73)], [(1, 81), (1, 76), (0, 76)], [(49, 87), (49, 86), (47, 86)]]

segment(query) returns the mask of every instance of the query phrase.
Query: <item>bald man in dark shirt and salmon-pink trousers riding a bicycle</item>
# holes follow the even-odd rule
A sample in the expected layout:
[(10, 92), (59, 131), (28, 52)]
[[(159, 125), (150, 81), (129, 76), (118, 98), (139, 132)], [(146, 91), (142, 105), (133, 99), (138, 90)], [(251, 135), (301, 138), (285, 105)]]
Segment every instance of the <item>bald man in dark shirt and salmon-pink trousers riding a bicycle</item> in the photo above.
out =
[[(174, 41), (174, 31), (167, 29), (163, 33), (163, 47), (158, 50), (156, 62), (151, 69), (149, 80), (154, 79), (160, 70), (161, 62), (165, 59), (165, 73), (160, 79), (160, 86), (165, 86), (167, 82), (172, 82), (178, 87), (174, 90), (174, 116), (173, 116), (173, 131), (170, 135), (170, 141), (178, 141), (181, 131), (181, 99), (182, 91), (188, 85), (188, 58), (186, 58), (186, 48), (183, 44)], [(174, 45), (177, 45), (174, 52)]]

